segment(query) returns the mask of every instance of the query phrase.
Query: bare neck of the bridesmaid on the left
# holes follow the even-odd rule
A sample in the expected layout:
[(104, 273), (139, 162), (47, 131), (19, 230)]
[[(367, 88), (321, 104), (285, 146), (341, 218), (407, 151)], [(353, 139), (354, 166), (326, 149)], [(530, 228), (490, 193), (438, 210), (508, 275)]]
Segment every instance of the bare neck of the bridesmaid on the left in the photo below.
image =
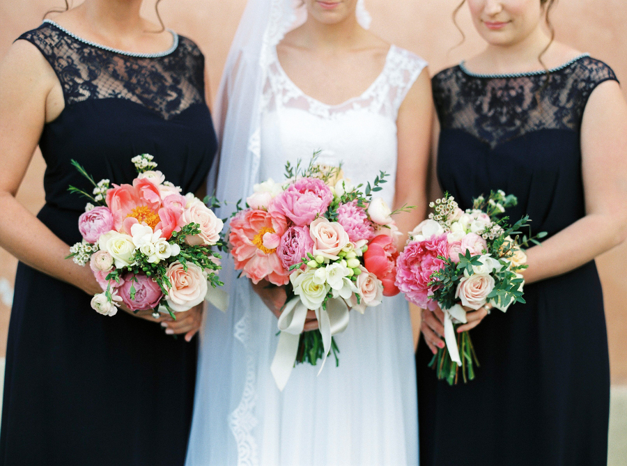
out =
[(139, 15), (142, 0), (86, 0), (81, 6), (85, 20), (105, 35), (136, 35), (144, 30)]

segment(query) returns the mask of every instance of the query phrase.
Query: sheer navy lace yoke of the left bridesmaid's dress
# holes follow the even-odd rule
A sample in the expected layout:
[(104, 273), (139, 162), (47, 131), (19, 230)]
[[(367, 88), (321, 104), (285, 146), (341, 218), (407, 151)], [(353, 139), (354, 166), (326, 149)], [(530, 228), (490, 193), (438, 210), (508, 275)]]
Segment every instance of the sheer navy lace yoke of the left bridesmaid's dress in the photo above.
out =
[(156, 54), (136, 54), (89, 42), (45, 20), (20, 39), (38, 47), (56, 72), (65, 105), (121, 98), (169, 119), (204, 102), (204, 57), (191, 40), (170, 31), (173, 45)]

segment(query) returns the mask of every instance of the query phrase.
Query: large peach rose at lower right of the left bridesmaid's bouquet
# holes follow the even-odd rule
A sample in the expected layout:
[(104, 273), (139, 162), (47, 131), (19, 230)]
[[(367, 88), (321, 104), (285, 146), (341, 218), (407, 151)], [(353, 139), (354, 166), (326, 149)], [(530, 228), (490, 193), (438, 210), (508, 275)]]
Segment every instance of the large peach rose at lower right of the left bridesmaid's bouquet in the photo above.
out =
[(166, 301), (173, 311), (189, 311), (205, 300), (208, 290), (207, 277), (198, 265), (187, 263), (185, 270), (183, 264), (173, 262), (168, 267), (166, 277), (172, 285)]

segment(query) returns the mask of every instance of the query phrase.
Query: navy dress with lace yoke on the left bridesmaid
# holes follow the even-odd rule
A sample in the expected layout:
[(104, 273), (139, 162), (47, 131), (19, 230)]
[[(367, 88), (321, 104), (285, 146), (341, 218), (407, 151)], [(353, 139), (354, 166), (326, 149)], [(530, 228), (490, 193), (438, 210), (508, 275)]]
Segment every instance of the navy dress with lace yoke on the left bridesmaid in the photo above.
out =
[[(154, 155), (166, 179), (194, 192), (217, 141), (204, 98), (204, 58), (172, 33), (158, 54), (82, 40), (54, 22), (24, 33), (56, 72), (65, 108), (45, 125), (47, 168), (38, 218), (68, 244), (95, 180), (132, 182), (130, 161)], [(197, 343), (118, 312), (100, 316), (82, 290), (20, 263), (11, 311), (0, 434), (1, 465), (183, 465)]]

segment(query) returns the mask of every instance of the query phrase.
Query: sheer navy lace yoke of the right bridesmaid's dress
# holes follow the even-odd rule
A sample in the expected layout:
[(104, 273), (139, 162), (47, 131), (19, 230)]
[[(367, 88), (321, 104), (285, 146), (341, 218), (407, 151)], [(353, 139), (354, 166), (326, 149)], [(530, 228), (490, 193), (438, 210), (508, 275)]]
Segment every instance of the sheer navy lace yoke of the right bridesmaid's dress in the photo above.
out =
[(587, 55), (550, 77), (474, 75), (458, 65), (433, 77), (433, 95), (442, 129), (464, 130), (494, 148), (538, 130), (579, 131), (589, 96), (607, 80), (617, 80), (612, 69)]

